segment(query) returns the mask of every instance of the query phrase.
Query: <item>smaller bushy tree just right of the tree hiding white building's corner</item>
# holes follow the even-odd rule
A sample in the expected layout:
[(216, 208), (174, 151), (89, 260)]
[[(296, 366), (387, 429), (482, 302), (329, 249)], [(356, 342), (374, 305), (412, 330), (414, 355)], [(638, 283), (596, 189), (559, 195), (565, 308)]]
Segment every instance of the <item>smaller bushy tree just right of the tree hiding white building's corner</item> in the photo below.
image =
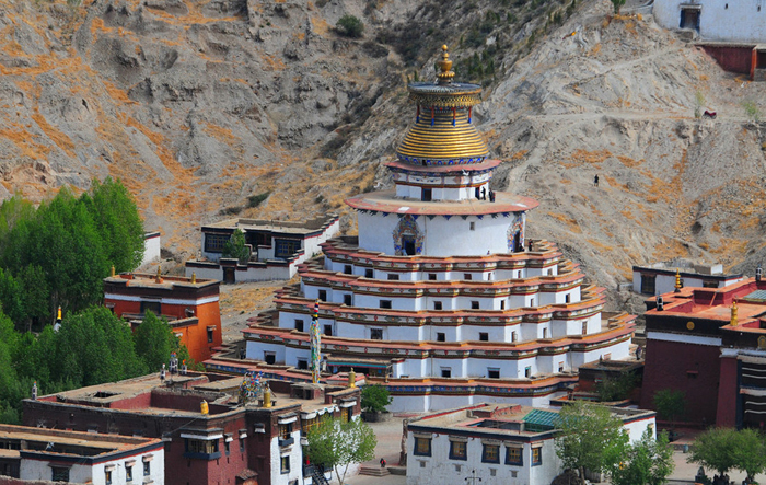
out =
[(628, 444), (607, 474), (613, 485), (662, 485), (674, 467), (668, 434), (654, 439), (651, 430), (646, 429), (640, 441)]

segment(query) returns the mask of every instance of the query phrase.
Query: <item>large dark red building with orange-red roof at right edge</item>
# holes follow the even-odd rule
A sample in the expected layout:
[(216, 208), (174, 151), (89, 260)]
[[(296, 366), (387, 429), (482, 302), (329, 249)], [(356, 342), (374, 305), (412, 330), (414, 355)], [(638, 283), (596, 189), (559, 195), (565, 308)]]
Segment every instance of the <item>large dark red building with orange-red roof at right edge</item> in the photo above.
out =
[(658, 391), (680, 390), (688, 423), (763, 428), (766, 281), (681, 288), (647, 307), (641, 407), (654, 408)]

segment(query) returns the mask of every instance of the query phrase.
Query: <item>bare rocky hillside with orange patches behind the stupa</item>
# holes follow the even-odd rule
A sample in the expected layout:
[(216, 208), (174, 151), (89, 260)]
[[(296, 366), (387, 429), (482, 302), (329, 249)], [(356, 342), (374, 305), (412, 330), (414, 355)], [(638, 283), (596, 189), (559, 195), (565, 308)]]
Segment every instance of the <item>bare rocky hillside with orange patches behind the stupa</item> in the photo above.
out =
[[(406, 81), (431, 78), (446, 43), (457, 78), (486, 86), (496, 188), (538, 198), (527, 235), (601, 285), (763, 252), (765, 127), (741, 105), (763, 86), (610, 2), (76, 2), (0, 0), (1, 197), (118, 176), (179, 259), (224, 215), (344, 210), (390, 184)], [(335, 31), (346, 14), (362, 38)], [(694, 117), (699, 97), (716, 120)]]

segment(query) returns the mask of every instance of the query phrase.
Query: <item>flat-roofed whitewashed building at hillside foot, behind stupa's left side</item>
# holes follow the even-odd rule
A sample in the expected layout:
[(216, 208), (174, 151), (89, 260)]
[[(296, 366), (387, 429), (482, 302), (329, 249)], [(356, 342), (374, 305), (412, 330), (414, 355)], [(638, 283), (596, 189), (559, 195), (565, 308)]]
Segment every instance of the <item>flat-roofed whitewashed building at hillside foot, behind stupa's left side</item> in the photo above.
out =
[[(241, 264), (223, 257), (223, 247), (232, 233), (245, 235), (249, 259)], [(224, 282), (290, 279), (298, 265), (322, 252), (321, 245), (338, 233), (340, 219), (335, 213), (307, 221), (229, 219), (204, 226), (201, 258), (186, 262), (186, 276)]]

